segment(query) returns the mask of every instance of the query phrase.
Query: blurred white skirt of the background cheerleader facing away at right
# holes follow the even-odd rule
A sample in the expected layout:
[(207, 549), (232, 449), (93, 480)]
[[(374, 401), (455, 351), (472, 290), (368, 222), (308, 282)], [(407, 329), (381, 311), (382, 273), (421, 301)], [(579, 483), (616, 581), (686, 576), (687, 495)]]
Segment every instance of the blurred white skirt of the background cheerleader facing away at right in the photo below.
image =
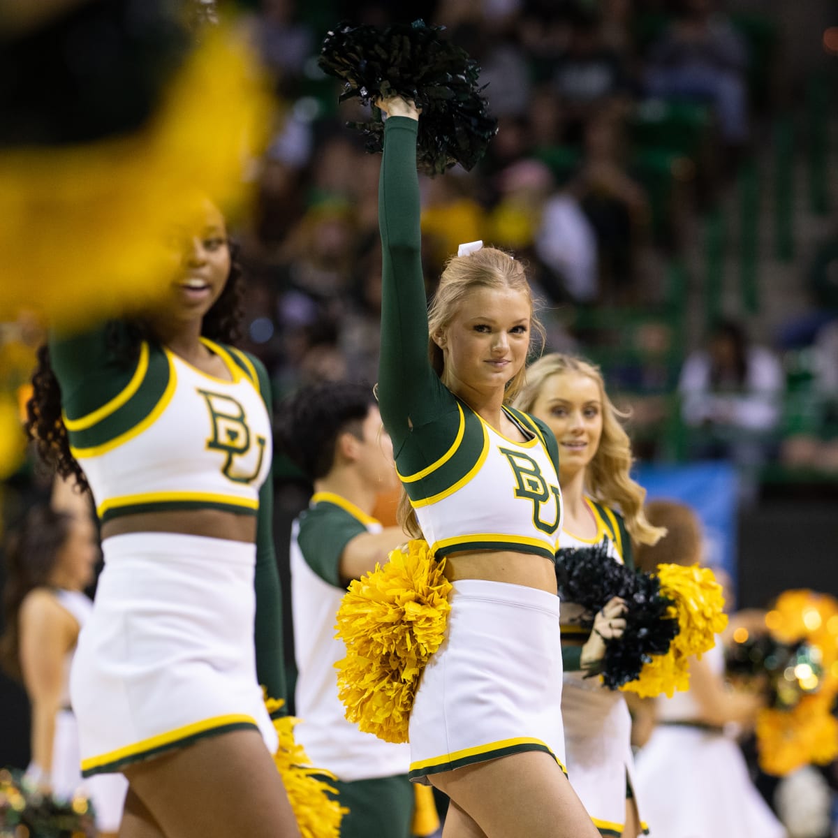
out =
[(659, 725), (637, 755), (638, 794), (662, 838), (785, 838), (736, 742), (700, 727)]

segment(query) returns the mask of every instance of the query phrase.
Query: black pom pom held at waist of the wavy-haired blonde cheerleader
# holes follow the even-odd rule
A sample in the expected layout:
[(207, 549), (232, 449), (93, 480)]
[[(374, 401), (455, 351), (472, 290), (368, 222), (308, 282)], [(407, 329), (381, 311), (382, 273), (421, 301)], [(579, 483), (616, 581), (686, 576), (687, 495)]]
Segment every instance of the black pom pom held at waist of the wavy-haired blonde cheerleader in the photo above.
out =
[(660, 579), (638, 573), (608, 554), (608, 541), (592, 547), (569, 547), (556, 556), (556, 581), (562, 600), (585, 609), (582, 626), (590, 629), (593, 618), (608, 600), (621, 597), (627, 605), (623, 636), (605, 640), (603, 683), (616, 690), (636, 680), (650, 655), (666, 654), (678, 634), (678, 621), (668, 616), (672, 600), (660, 593)]

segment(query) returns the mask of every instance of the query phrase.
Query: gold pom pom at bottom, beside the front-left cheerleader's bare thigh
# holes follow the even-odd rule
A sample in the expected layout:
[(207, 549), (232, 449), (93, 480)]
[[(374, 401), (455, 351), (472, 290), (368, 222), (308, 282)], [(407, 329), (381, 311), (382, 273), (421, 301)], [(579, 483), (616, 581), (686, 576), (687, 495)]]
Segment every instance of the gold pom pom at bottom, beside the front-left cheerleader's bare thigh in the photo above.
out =
[[(265, 704), (267, 711), (274, 713), (282, 708), (285, 701), (268, 698)], [(294, 727), (299, 722), (294, 716), (280, 716), (273, 720), (279, 737), (273, 761), (277, 764), (303, 838), (339, 838), (340, 821), (349, 810), (329, 796), (338, 794), (337, 789), (320, 779), (333, 775), (323, 768), (313, 768), (303, 746), (294, 741)]]

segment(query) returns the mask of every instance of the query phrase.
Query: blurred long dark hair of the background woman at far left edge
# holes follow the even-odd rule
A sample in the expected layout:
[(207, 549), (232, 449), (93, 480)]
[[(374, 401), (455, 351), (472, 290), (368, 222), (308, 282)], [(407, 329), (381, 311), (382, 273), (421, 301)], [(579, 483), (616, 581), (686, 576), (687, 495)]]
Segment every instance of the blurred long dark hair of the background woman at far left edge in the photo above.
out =
[(70, 535), (73, 516), (48, 505), (35, 506), (8, 536), (5, 550), (3, 623), (0, 665), (20, 680), (18, 615), (28, 592), (47, 584), (59, 551)]

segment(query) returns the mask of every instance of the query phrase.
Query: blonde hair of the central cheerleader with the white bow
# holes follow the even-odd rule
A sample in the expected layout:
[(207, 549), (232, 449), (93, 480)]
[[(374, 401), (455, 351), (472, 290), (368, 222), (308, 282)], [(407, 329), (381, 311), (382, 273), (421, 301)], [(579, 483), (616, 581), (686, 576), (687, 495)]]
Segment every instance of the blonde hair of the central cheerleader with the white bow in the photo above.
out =
[[(544, 327), (535, 315), (530, 283), (527, 282), (525, 267), (520, 261), (496, 247), (483, 247), (468, 256), (451, 256), (445, 263), (437, 292), (433, 295), (427, 313), (427, 354), (433, 370), (440, 378), (445, 372), (445, 356), (433, 336), (446, 330), (466, 297), (478, 288), (524, 293), (530, 303), (530, 353), (534, 351), (534, 346), (540, 349), (544, 343)], [(515, 400), (515, 396), (524, 385), (526, 375), (526, 368), (523, 366), (512, 376), (506, 385), (504, 404), (511, 404)], [(396, 520), (413, 538), (422, 537), (422, 529), (404, 486), (401, 487)]]

